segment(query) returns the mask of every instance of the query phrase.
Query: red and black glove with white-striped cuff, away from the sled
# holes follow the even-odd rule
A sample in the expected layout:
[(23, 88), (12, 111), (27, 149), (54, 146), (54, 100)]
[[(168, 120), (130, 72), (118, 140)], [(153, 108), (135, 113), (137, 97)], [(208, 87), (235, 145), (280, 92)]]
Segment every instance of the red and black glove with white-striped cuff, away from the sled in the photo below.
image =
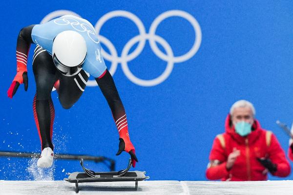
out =
[(18, 52), (16, 58), (17, 58), (17, 69), (16, 69), (17, 73), (7, 91), (7, 96), (9, 98), (12, 98), (14, 96), (20, 84), (24, 83), (25, 91), (27, 91), (27, 87), (28, 87), (26, 56)]

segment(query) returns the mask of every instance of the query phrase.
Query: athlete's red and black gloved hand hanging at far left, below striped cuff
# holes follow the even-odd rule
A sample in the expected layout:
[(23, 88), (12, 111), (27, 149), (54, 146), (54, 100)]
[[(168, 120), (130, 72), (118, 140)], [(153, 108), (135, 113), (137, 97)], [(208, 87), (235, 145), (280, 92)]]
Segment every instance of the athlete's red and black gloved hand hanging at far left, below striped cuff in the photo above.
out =
[(13, 79), (8, 91), (7, 96), (12, 98), (19, 88), (20, 84), (24, 83), (24, 90), (27, 91), (28, 88), (28, 77), (27, 72), (18, 72)]

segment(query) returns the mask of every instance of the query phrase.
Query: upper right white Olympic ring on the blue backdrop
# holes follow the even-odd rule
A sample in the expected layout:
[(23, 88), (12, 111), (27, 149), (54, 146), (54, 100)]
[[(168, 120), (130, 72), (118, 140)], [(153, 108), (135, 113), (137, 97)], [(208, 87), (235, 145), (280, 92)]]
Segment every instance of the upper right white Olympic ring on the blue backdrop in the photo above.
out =
[[(169, 17), (175, 17), (175, 16), (178, 16), (178, 17), (181, 17), (181, 18), (188, 20), (189, 23), (194, 28), (194, 36), (195, 36), (195, 40), (194, 40), (194, 44), (193, 44), (192, 48), (186, 54), (184, 54), (182, 56), (174, 57), (174, 62), (178, 63), (178, 62), (183, 62), (183, 61), (186, 61), (186, 60), (192, 58), (200, 47), (201, 40), (202, 40), (202, 34), (201, 34), (201, 28), (200, 28), (197, 20), (195, 20), (195, 18), (192, 15), (188, 14), (187, 12), (184, 12), (181, 10), (170, 10), (170, 11), (167, 11), (167, 12), (160, 14), (152, 22), (152, 24), (150, 25), (150, 28), (149, 28), (149, 34), (155, 35), (158, 25), (163, 20), (165, 20)], [(160, 59), (167, 61), (167, 56), (158, 48), (158, 46), (156, 45), (156, 43), (153, 39), (149, 39), (149, 44), (150, 44), (150, 47), (152, 48), (153, 52), (155, 52), (155, 54)]]

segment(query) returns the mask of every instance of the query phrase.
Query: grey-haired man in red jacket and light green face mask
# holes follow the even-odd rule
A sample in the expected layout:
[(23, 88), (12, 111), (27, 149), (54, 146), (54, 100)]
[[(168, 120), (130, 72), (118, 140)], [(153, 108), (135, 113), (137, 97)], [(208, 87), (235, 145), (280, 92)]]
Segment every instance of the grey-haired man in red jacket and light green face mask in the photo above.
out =
[(208, 179), (223, 181), (267, 180), (286, 177), (291, 169), (277, 138), (261, 128), (255, 109), (246, 100), (235, 102), (228, 115), (224, 134), (213, 142), (206, 172)]

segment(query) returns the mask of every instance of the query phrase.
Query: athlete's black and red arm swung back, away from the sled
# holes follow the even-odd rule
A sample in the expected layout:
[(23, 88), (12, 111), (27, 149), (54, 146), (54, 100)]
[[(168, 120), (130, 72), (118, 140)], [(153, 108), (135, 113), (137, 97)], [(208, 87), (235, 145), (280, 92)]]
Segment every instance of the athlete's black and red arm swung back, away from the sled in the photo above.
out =
[(33, 43), (31, 34), (32, 29), (35, 25), (30, 25), (21, 29), (19, 36), (17, 38), (16, 46), (16, 64), (17, 64), (17, 73), (15, 78), (10, 85), (7, 95), (9, 98), (12, 98), (16, 93), (18, 87), (21, 83), (24, 83), (24, 90), (27, 91), (28, 87), (28, 78), (27, 78), (27, 58), (30, 48), (30, 44)]

